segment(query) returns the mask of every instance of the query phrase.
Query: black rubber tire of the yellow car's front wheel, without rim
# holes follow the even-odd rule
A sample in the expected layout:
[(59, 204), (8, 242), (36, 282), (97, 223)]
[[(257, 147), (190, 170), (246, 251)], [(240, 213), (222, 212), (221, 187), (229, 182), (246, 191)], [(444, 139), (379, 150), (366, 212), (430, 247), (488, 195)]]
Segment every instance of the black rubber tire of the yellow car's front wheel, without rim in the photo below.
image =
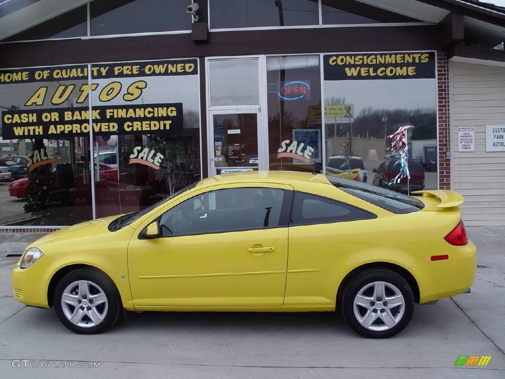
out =
[[(90, 299), (93, 295), (98, 294), (97, 289), (102, 290), (103, 294), (105, 294), (106, 302), (102, 305), (95, 305), (94, 307), (98, 310), (98, 313), (94, 314), (102, 314), (104, 317), (101, 322), (94, 322), (90, 317), (87, 316), (86, 312), (91, 310), (91, 304), (85, 304), (87, 307), (80, 306), (79, 308), (84, 312), (84, 316), (81, 318), (81, 325), (75, 324), (70, 321), (70, 319), (66, 316), (66, 313), (76, 311), (76, 307), (73, 305), (67, 306), (62, 305), (62, 296), (64, 291), (71, 285), (75, 284), (79, 280), (85, 280), (88, 282), (88, 288), (90, 293)], [(77, 287), (78, 288), (78, 287)], [(78, 290), (74, 290), (74, 294), (72, 296), (76, 296), (76, 299), (79, 298)], [(98, 334), (102, 333), (107, 328), (114, 325), (119, 317), (122, 314), (122, 304), (119, 293), (116, 289), (116, 286), (112, 282), (112, 280), (105, 274), (99, 271), (95, 271), (92, 269), (79, 269), (75, 271), (71, 271), (66, 274), (59, 282), (55, 288), (54, 292), (54, 306), (55, 311), (60, 319), (60, 321), (70, 330), (74, 331), (78, 334)], [(82, 300), (77, 300), (80, 304)], [(89, 301), (89, 299), (87, 299)], [(94, 310), (94, 308), (93, 308)], [(92, 326), (88, 326), (90, 324)]]

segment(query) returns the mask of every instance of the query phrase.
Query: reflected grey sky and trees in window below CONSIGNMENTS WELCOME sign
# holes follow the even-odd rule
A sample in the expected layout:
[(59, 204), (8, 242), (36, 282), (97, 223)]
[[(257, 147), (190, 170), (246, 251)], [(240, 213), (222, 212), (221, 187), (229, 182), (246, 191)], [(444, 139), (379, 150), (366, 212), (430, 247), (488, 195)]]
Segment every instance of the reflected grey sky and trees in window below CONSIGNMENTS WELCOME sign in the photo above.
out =
[[(429, 60), (423, 64), (433, 73), (433, 78), (398, 76), (384, 80), (369, 76), (324, 81), (325, 147), (329, 167), (359, 168), (360, 172), (366, 171), (360, 174), (360, 179), (367, 178), (368, 183), (402, 193), (409, 189), (437, 188), (434, 55), (430, 53)], [(346, 107), (352, 110), (352, 117), (344, 117), (338, 111)], [(398, 166), (394, 166), (398, 159), (387, 150), (391, 143), (387, 136), (403, 125), (414, 126), (408, 135), (412, 160), (410, 188), (406, 179), (390, 184), (398, 172)]]

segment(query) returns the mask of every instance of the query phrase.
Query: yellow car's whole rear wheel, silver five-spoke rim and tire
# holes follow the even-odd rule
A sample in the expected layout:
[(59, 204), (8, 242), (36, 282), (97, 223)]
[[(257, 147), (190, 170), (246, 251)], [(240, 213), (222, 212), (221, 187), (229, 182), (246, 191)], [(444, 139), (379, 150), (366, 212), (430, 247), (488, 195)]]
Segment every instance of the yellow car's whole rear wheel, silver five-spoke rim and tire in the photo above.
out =
[(403, 330), (414, 312), (409, 283), (394, 271), (372, 269), (352, 278), (342, 296), (342, 313), (352, 329), (368, 338), (388, 338)]

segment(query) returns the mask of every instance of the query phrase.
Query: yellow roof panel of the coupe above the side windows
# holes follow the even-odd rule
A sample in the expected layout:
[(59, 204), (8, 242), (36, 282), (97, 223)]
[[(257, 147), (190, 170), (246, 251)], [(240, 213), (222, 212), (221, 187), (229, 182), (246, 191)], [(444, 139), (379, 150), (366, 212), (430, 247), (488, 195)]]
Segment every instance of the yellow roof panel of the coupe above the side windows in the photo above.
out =
[(211, 176), (203, 179), (196, 185), (206, 186), (217, 183), (232, 183), (232, 182), (319, 182), (329, 184), (328, 179), (323, 174), (300, 172), (300, 171), (244, 171), (232, 174), (222, 174)]

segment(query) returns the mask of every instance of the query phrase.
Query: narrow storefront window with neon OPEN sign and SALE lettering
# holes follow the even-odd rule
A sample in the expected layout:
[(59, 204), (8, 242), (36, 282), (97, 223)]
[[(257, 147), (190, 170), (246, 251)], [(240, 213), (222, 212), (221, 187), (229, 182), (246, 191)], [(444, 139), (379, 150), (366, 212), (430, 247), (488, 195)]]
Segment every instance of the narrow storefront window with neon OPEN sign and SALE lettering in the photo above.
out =
[(319, 56), (267, 57), (267, 85), (270, 170), (321, 172)]

